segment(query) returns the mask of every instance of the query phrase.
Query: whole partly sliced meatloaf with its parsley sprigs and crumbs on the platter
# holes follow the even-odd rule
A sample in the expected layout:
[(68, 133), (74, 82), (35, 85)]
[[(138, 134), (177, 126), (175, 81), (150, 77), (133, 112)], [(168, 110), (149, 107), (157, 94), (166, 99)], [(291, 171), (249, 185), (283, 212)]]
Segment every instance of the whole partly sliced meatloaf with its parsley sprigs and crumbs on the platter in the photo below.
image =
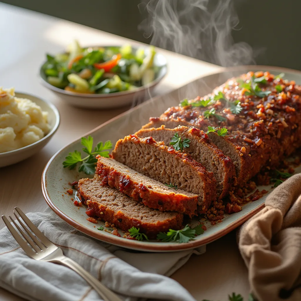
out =
[[(82, 138), (88, 156), (75, 151), (63, 164), (94, 174), (72, 183), (88, 219), (128, 239), (184, 243), (204, 233), (200, 220), (222, 222), (280, 185), (301, 147), (301, 86), (283, 76), (249, 72), (185, 99), (119, 139), (110, 155), (110, 141), (93, 149), (93, 138)], [(191, 219), (198, 225), (185, 226)]]

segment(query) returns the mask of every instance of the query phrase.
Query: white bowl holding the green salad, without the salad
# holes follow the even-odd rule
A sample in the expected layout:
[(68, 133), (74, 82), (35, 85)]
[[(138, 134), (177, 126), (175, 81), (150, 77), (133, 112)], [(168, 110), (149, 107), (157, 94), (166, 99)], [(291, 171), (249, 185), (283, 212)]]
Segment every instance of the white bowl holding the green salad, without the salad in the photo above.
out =
[[(132, 49), (133, 51), (135, 51), (137, 48), (132, 47)], [(145, 48), (145, 53), (147, 52), (148, 48)], [(42, 66), (44, 65), (44, 63), (42, 64)], [(167, 73), (166, 58), (162, 54), (156, 53), (154, 57), (154, 66), (160, 67), (160, 71), (151, 83), (138, 87), (137, 89), (131, 91), (122, 91), (109, 94), (85, 94), (66, 91), (49, 84), (49, 82), (47, 82), (46, 80), (45, 73), (42, 70), (42, 66), (40, 68), (42, 85), (50, 89), (59, 98), (66, 101), (68, 104), (75, 107), (90, 109), (123, 107), (132, 104), (135, 101), (141, 101), (144, 98), (147, 98), (148, 95), (150, 95), (150, 92), (152, 92), (154, 87), (163, 79), (163, 77)]]

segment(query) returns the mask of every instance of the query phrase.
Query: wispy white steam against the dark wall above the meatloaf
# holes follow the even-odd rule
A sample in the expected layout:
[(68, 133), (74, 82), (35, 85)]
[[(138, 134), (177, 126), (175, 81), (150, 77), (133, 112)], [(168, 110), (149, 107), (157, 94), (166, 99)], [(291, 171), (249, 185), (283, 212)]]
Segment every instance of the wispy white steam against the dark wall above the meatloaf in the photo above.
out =
[(140, 29), (151, 44), (224, 67), (254, 64), (245, 42), (234, 43), (238, 17), (232, 0), (150, 0), (139, 5), (148, 13)]

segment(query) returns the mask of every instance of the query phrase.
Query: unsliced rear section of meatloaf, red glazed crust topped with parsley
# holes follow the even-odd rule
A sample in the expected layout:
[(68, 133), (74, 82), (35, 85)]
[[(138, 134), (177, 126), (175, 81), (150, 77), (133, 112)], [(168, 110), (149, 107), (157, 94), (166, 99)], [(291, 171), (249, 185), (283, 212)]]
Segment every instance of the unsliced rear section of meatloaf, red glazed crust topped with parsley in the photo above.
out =
[[(208, 126), (226, 127), (225, 137), (216, 133), (209, 137), (232, 159), (237, 182), (244, 185), (262, 167), (277, 166), (301, 146), (300, 96), (301, 86), (293, 81), (268, 72), (249, 72), (229, 79), (211, 95), (170, 107), (144, 128), (162, 124), (204, 131)], [(209, 99), (207, 106), (198, 105)]]

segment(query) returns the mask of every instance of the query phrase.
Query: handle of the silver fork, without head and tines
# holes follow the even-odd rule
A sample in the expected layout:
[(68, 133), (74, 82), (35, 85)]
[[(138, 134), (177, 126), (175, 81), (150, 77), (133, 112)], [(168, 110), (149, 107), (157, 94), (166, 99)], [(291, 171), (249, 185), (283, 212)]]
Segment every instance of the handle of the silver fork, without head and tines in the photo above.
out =
[(59, 258), (51, 260), (51, 262), (61, 263), (82, 276), (82, 278), (84, 278), (85, 281), (87, 281), (88, 284), (90, 284), (97, 291), (104, 301), (122, 301), (115, 293), (105, 287), (98, 279), (88, 273), (84, 268), (82, 268), (78, 263), (69, 257), (60, 256)]

